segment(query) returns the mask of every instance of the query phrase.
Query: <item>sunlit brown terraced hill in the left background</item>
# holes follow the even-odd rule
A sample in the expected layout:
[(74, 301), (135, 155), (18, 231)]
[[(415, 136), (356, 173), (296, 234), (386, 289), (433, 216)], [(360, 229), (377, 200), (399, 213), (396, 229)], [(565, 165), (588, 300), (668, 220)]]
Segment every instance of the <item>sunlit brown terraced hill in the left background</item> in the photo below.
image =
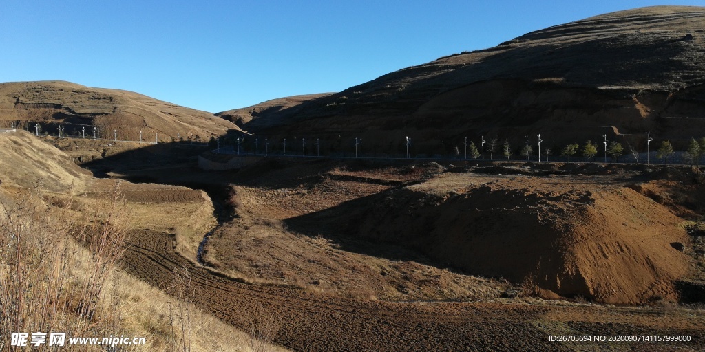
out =
[[(239, 130), (232, 122), (205, 111), (185, 108), (149, 96), (118, 89), (85, 87), (80, 84), (46, 82), (0, 83), (0, 123), (10, 127), (40, 122), (44, 131), (56, 133), (59, 124), (66, 134), (98, 134), (121, 139), (170, 142), (177, 134), (184, 140), (207, 141), (214, 135)], [(44, 122), (44, 123), (42, 123)], [(31, 127), (34, 127), (33, 125)]]

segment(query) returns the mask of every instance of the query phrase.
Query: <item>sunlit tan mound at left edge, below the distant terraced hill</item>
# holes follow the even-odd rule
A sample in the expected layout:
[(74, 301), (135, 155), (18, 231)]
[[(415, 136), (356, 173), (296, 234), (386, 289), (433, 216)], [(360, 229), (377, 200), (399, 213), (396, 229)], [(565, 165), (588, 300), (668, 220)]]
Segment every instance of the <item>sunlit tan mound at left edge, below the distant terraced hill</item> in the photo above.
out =
[(49, 191), (75, 192), (90, 178), (90, 172), (75, 165), (63, 151), (23, 130), (0, 130), (0, 180), (3, 187), (35, 187)]

